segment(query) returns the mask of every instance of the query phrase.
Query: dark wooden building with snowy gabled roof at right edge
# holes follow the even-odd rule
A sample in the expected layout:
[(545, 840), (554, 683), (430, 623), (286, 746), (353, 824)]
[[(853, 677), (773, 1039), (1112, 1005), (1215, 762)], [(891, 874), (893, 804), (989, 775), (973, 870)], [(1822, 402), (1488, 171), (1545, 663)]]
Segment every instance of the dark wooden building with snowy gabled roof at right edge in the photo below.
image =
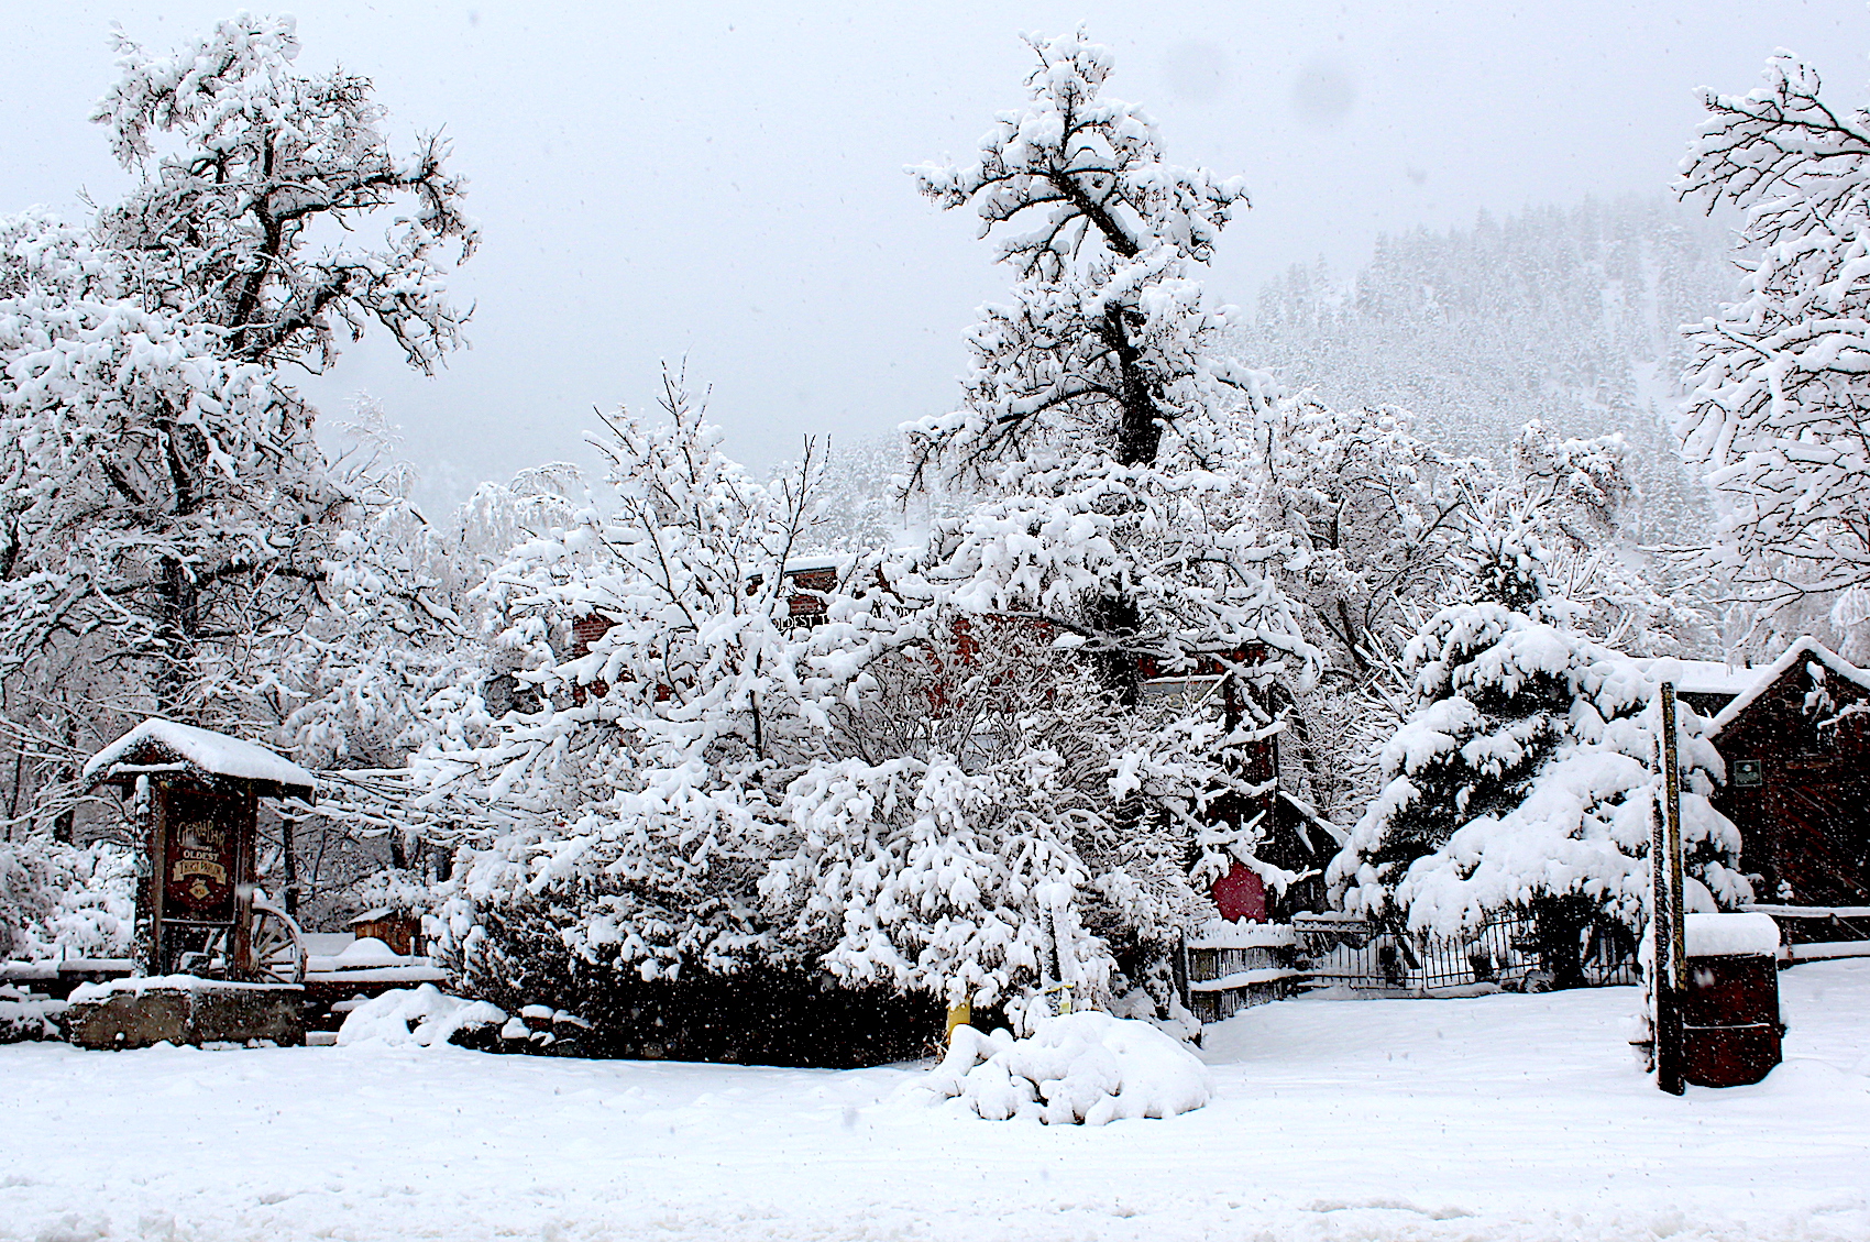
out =
[(1801, 638), (1733, 673), (1739, 686), (1700, 685), (1690, 666), (1681, 698), (1715, 713), (1728, 782), (1713, 802), (1741, 830), (1756, 900), (1870, 905), (1870, 672)]

